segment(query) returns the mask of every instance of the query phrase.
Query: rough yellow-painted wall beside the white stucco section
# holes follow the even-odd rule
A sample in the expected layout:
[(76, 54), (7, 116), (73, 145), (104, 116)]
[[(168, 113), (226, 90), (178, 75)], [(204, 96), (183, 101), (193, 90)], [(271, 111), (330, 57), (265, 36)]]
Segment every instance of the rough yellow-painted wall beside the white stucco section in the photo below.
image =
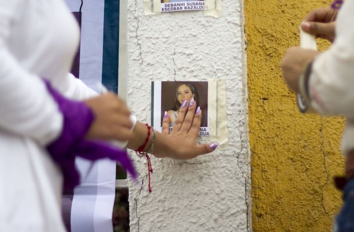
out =
[(343, 173), (344, 120), (300, 114), (279, 67), (306, 13), (330, 1), (244, 4), (253, 231), (330, 231), (342, 203), (332, 177)]

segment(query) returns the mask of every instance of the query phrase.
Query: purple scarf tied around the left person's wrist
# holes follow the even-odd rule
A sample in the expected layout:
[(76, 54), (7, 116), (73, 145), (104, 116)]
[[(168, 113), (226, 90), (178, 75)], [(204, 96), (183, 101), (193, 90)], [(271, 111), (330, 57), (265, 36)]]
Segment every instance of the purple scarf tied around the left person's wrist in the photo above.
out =
[(63, 172), (64, 189), (73, 189), (79, 184), (79, 172), (75, 167), (75, 157), (80, 156), (89, 160), (110, 158), (118, 161), (126, 168), (132, 178), (137, 174), (127, 152), (114, 147), (107, 142), (84, 139), (94, 121), (92, 110), (81, 101), (74, 101), (63, 97), (48, 81), (49, 93), (58, 103), (59, 110), (64, 117), (63, 130), (59, 138), (47, 146), (53, 160), (57, 162)]

